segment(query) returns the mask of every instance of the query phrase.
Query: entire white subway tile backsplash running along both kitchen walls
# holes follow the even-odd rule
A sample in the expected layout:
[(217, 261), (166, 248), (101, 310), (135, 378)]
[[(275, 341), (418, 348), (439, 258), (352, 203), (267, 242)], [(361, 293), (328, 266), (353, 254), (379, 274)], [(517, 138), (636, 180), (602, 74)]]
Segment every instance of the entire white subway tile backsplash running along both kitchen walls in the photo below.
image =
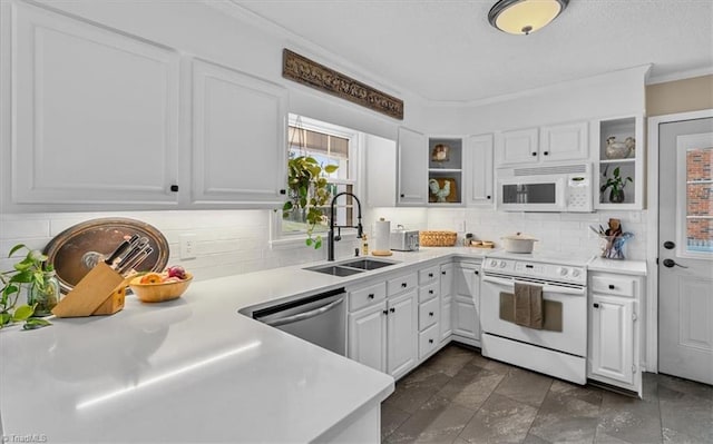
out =
[[(380, 217), (407, 229), (447, 229), (472, 233), (478, 239), (500, 243), (500, 237), (521, 231), (539, 239), (536, 250), (590, 251), (596, 255), (599, 239), (589, 225), (606, 226), (611, 217), (622, 219), (625, 231), (634, 238), (625, 247), (629, 259), (646, 258), (646, 211), (603, 211), (590, 214), (501, 213), (476, 208), (369, 208), (364, 226), (372, 233)], [(267, 268), (304, 264), (326, 258), (326, 248), (314, 250), (302, 243), (271, 246), (270, 210), (191, 210), (191, 211), (123, 211), (57, 213), (0, 215), (0, 269), (10, 269), (16, 258), (7, 251), (22, 243), (42, 249), (62, 230), (87, 220), (105, 217), (128, 217), (150, 224), (166, 237), (170, 255), (168, 264), (183, 265), (197, 279), (243, 274)], [(194, 234), (195, 259), (179, 259), (179, 236)], [(354, 239), (336, 243), (338, 258), (353, 255)]]

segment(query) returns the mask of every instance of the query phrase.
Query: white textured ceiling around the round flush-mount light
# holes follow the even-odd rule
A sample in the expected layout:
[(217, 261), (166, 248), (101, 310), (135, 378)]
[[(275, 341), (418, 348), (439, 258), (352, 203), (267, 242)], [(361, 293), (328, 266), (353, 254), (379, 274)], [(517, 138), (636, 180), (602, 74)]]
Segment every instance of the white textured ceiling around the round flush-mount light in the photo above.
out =
[(478, 101), (647, 63), (654, 80), (713, 72), (713, 0), (572, 0), (530, 36), (489, 24), (496, 0), (231, 1), (391, 91), (433, 101)]

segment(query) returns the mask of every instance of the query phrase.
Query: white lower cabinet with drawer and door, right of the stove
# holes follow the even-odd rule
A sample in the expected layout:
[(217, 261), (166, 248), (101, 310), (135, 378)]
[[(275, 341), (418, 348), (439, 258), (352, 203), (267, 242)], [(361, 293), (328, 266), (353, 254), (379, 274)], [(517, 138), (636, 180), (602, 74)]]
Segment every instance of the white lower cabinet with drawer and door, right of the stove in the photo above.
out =
[(642, 394), (639, 364), (643, 278), (589, 274), (589, 351), (587, 377)]

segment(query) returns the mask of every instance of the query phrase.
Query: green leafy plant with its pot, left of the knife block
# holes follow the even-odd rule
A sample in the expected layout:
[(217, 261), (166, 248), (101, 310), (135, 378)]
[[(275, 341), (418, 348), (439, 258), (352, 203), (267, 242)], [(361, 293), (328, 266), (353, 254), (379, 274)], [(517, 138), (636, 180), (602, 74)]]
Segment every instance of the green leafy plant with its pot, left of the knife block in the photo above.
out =
[[(59, 285), (47, 256), (23, 244), (10, 249), (8, 257), (26, 249), (27, 255), (13, 265), (13, 269), (0, 273), (2, 292), (0, 293), (0, 328), (23, 322), (25, 329), (51, 325), (47, 319), (33, 316), (49, 315), (49, 310), (59, 302)], [(18, 305), (22, 288), (27, 286), (28, 304)]]

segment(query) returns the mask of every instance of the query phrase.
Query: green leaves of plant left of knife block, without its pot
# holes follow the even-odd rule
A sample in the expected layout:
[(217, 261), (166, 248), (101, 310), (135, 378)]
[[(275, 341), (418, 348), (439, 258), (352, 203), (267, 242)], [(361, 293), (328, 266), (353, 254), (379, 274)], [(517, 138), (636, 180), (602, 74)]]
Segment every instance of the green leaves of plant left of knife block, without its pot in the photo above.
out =
[[(12, 270), (0, 273), (0, 280), (2, 282), (2, 293), (0, 294), (0, 328), (23, 320), (25, 325), (22, 328), (25, 329), (51, 325), (47, 319), (32, 317), (37, 304), (17, 305), (25, 285), (27, 285), (28, 290), (32, 286), (42, 290), (46, 288), (46, 273), (52, 272), (51, 265), (45, 265), (47, 256), (38, 250), (28, 248), (23, 244), (12, 247), (8, 257), (11, 257), (20, 249), (28, 251), (25, 258), (14, 264)], [(59, 295), (55, 295), (55, 297), (59, 297)]]

